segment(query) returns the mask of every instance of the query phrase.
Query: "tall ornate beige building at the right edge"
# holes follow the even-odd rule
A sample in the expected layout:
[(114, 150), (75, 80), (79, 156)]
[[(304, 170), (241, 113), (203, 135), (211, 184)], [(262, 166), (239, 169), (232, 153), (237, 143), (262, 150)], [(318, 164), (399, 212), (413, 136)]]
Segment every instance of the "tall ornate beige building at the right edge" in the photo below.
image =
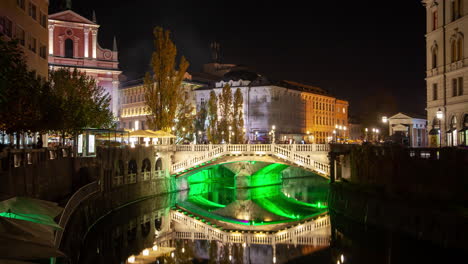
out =
[[(426, 7), (427, 120), (431, 145), (467, 145), (468, 0), (423, 0)], [(442, 118), (437, 118), (441, 111)], [(441, 135), (439, 135), (441, 133)]]

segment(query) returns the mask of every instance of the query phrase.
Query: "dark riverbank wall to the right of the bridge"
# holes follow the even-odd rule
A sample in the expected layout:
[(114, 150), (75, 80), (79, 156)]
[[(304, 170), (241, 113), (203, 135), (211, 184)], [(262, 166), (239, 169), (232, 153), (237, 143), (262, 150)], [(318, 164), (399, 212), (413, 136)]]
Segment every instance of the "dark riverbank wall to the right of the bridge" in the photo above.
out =
[(468, 248), (468, 151), (337, 146), (329, 208), (358, 223)]

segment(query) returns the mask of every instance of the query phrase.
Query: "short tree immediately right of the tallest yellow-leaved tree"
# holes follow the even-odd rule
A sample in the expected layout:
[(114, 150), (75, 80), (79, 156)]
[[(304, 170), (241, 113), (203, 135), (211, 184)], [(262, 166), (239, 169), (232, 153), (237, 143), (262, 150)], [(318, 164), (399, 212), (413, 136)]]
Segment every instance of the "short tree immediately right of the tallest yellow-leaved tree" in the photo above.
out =
[(188, 93), (184, 93), (182, 100), (178, 104), (177, 109), (177, 123), (176, 123), (176, 136), (180, 141), (193, 139), (193, 106), (189, 102)]

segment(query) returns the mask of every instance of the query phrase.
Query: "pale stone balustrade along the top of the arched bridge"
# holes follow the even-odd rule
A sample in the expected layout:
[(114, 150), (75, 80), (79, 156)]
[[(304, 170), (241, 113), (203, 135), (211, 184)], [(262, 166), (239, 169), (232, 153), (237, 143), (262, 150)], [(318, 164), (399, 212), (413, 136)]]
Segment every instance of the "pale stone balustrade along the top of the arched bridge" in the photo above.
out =
[[(179, 149), (181, 151), (195, 151), (196, 146), (183, 145)], [(171, 167), (171, 173), (179, 173), (224, 155), (273, 155), (325, 176), (330, 174), (330, 165), (328, 163), (310, 157), (310, 154), (326, 155), (328, 145), (224, 144), (207, 146), (206, 149), (210, 149), (209, 151), (200, 152), (195, 157), (174, 163)]]

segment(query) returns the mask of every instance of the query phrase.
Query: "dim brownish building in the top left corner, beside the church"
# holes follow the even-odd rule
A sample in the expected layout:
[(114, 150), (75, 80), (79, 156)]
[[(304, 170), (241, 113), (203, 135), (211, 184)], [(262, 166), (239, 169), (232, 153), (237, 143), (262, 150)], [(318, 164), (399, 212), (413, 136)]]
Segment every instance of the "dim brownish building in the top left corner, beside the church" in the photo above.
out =
[(48, 78), (49, 0), (0, 1), (0, 36), (17, 39), (29, 70)]

